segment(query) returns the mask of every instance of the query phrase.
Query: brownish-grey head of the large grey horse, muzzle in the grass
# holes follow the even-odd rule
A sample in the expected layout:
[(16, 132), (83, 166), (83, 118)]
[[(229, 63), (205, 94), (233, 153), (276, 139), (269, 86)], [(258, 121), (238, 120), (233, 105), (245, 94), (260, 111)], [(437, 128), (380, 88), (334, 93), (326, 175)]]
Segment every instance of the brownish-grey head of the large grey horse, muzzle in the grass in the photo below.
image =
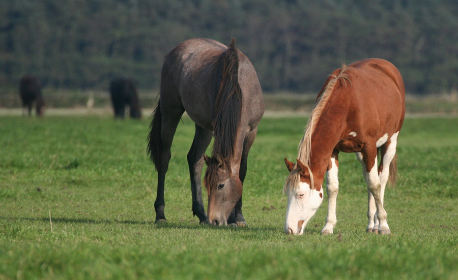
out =
[(211, 225), (226, 226), (227, 219), (237, 201), (242, 197), (242, 182), (239, 175), (232, 172), (230, 163), (219, 154), (208, 157), (204, 184), (208, 193), (208, 221)]

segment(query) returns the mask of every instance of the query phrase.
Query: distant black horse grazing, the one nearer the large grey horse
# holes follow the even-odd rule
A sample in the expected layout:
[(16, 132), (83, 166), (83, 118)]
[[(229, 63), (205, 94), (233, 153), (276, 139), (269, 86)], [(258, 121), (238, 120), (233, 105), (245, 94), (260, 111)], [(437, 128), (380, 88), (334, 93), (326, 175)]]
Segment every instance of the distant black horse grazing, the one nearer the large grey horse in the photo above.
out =
[(110, 96), (115, 117), (124, 118), (126, 105), (130, 108), (131, 118), (141, 118), (137, 89), (131, 79), (115, 78), (110, 82)]

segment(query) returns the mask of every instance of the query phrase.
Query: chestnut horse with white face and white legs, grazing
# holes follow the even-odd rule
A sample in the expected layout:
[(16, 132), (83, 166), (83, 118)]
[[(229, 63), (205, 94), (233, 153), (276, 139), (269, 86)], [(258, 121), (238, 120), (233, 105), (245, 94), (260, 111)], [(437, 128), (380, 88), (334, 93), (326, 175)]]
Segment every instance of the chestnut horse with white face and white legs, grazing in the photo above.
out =
[[(335, 70), (326, 80), (308, 119), (296, 164), (283, 191), (288, 195), (284, 230), (302, 234), (323, 202), (326, 174), (328, 215), (322, 234), (333, 233), (338, 192), (338, 154), (355, 152), (367, 184), (367, 232), (389, 234), (383, 196), (397, 174), (396, 143), (405, 113), (405, 88), (399, 71), (383, 59), (365, 59)], [(377, 168), (377, 154), (380, 165)]]

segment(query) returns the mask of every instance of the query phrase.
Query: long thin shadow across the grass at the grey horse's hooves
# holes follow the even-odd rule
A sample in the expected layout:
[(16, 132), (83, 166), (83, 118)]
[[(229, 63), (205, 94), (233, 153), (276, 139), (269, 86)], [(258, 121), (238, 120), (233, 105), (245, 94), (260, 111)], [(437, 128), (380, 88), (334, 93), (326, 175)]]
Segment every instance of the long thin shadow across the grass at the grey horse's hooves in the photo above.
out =
[[(43, 222), (49, 223), (49, 217), (41, 217), (41, 218), (30, 218), (30, 217), (5, 217), (0, 216), (0, 221), (30, 221), (30, 222)], [(59, 223), (68, 223), (68, 224), (125, 224), (125, 225), (149, 225), (152, 226), (153, 229), (210, 229), (210, 230), (222, 230), (222, 231), (278, 231), (281, 229), (280, 227), (218, 227), (218, 226), (210, 226), (210, 225), (199, 225), (199, 224), (189, 224), (189, 222), (162, 222), (162, 223), (155, 223), (153, 221), (133, 221), (133, 220), (94, 220), (94, 219), (73, 219), (73, 218), (65, 218), (65, 217), (52, 217), (53, 224)], [(312, 232), (310, 232), (312, 234)]]

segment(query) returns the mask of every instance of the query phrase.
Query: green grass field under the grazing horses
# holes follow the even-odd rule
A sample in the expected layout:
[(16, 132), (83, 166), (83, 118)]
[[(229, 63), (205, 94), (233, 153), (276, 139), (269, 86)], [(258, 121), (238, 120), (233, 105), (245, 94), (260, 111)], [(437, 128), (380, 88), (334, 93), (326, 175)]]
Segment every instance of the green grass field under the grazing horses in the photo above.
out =
[(0, 280), (458, 278), (457, 118), (406, 119), (398, 184), (385, 195), (388, 236), (365, 233), (361, 166), (342, 153), (335, 234), (320, 235), (326, 199), (304, 235), (284, 234), (283, 158), (296, 158), (304, 117), (262, 120), (244, 228), (199, 226), (192, 216), (194, 125), (183, 118), (166, 178), (168, 222), (156, 225), (149, 121), (0, 117)]

